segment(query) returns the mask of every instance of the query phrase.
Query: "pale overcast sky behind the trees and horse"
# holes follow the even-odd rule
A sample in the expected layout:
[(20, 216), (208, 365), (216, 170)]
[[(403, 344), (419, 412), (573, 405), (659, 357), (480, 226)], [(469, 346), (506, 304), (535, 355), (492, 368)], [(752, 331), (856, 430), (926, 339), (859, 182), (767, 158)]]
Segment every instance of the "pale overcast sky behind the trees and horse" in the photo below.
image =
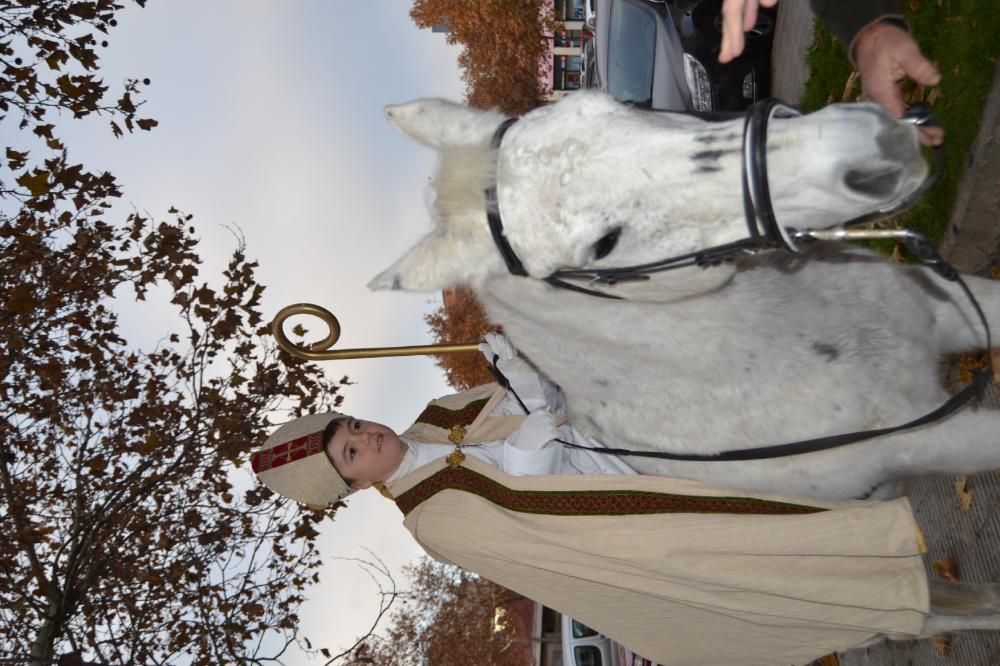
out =
[[(340, 320), (337, 348), (428, 344), (422, 317), (438, 296), (364, 286), (429, 229), (433, 156), (398, 136), (382, 107), (462, 92), (457, 49), (417, 30), (409, 8), (406, 0), (150, 0), (129, 9), (101, 54), (103, 74), (113, 89), (149, 77), (140, 115), (160, 125), (114, 140), (106, 120), (72, 123), (63, 132), (71, 157), (115, 174), (140, 211), (193, 214), (205, 277), (219, 275), (235, 247), (226, 226), (239, 227), (260, 261), (265, 316), (315, 302)], [(142, 307), (126, 310), (123, 330), (152, 344), (175, 315)], [(423, 357), (329, 363), (328, 373), (357, 382), (343, 392), (344, 411), (397, 430), (450, 392)], [(335, 558), (365, 557), (366, 546), (398, 570), (420, 552), (401, 522), (395, 505), (368, 491), (323, 528), (327, 563), (300, 614), (306, 635), (337, 649), (367, 630), (375, 588)]]

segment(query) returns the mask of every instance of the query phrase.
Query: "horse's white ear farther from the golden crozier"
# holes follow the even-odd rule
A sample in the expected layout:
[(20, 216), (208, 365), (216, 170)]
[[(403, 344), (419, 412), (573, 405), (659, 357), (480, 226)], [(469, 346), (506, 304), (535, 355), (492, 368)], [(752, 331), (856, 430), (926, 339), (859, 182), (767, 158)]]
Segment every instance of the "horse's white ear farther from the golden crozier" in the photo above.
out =
[(406, 136), (432, 148), (487, 145), (504, 121), (497, 111), (470, 109), (444, 99), (390, 104), (385, 117)]

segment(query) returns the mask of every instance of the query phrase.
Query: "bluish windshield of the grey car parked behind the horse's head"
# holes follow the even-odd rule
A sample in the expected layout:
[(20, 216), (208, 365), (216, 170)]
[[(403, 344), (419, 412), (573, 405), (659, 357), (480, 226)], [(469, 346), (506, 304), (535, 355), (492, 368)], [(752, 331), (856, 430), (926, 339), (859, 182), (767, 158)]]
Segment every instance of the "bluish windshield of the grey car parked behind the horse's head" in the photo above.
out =
[(608, 23), (608, 92), (620, 102), (651, 105), (656, 59), (652, 10), (622, 0), (612, 5)]

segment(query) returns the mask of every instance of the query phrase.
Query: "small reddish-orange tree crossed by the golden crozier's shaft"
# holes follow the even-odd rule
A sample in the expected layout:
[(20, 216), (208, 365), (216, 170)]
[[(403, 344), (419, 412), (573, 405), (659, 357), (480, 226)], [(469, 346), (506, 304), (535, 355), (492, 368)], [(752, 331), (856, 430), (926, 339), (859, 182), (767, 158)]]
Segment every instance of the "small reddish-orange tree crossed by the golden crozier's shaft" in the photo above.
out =
[[(441, 307), (424, 315), (424, 321), (438, 344), (481, 340), (489, 331), (500, 328), (490, 323), (476, 295), (463, 286), (445, 291)], [(452, 388), (463, 390), (494, 381), (486, 359), (480, 354), (440, 354), (434, 361)]]

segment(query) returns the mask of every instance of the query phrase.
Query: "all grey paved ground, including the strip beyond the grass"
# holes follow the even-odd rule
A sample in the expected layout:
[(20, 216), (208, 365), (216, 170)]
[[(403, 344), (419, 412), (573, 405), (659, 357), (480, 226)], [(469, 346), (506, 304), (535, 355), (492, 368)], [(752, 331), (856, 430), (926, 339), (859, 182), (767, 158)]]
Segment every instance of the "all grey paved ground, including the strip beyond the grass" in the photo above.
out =
[[(774, 44), (776, 97), (797, 103), (808, 78), (805, 51), (812, 42), (813, 16), (805, 0), (779, 3)], [(947, 129), (947, 128), (945, 128)], [(947, 143), (946, 143), (947, 149)], [(962, 271), (989, 275), (1000, 265), (1000, 65), (987, 99), (983, 124), (967, 160), (950, 229), (942, 250)], [(1000, 329), (1000, 322), (992, 322)], [(994, 331), (1000, 337), (1000, 330)], [(1000, 408), (996, 387), (983, 408)], [(985, 446), (1000, 446), (1000, 433)], [(1000, 475), (970, 477), (973, 493), (968, 511), (959, 507), (955, 479), (931, 477), (912, 481), (906, 494), (927, 538), (929, 575), (934, 560), (951, 558), (965, 582), (1000, 581)], [(842, 666), (994, 666), (1000, 664), (1000, 632), (970, 632), (951, 638), (942, 656), (930, 640), (886, 641), (840, 655)]]

